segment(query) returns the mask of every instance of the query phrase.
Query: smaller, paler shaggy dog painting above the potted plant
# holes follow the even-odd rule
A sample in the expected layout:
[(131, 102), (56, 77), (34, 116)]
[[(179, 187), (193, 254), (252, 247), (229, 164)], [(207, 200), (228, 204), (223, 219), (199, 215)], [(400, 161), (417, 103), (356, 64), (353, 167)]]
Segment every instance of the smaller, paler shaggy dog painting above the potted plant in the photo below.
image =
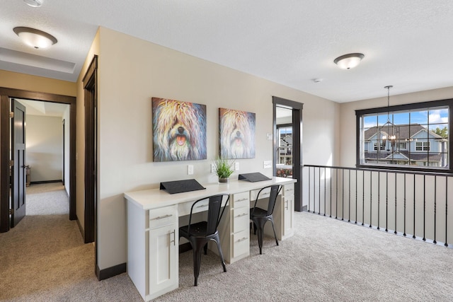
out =
[(255, 158), (255, 113), (219, 108), (220, 157)]

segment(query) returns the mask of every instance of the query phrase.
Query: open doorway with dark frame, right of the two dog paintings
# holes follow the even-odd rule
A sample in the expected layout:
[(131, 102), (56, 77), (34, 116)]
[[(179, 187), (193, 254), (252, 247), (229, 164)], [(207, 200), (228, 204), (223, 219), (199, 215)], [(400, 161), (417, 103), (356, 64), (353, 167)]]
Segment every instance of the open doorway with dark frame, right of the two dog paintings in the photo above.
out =
[(273, 97), (273, 175), (294, 178), (294, 210), (302, 211), (302, 103)]

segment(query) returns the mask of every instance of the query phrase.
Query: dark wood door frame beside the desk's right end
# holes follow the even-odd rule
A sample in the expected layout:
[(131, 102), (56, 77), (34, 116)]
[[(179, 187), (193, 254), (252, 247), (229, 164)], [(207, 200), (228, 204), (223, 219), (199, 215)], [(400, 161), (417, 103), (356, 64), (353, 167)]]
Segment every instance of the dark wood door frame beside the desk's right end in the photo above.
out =
[(288, 108), (292, 108), (292, 178), (297, 179), (294, 184), (294, 210), (302, 211), (302, 109), (304, 104), (294, 102), (294, 100), (287, 100), (285, 98), (279, 98), (273, 96), (273, 122), (274, 122), (274, 151), (273, 151), (273, 175), (276, 175), (277, 169), (275, 163), (277, 163), (277, 117), (276, 108), (277, 105), (283, 105)]

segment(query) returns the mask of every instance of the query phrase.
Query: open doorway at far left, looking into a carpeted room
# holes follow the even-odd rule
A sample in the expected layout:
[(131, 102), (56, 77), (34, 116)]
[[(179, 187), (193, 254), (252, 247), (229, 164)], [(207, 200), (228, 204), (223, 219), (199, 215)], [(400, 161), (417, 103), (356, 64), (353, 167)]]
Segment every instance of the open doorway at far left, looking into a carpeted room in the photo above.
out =
[(16, 99), (25, 107), (25, 216), (69, 216), (68, 104)]

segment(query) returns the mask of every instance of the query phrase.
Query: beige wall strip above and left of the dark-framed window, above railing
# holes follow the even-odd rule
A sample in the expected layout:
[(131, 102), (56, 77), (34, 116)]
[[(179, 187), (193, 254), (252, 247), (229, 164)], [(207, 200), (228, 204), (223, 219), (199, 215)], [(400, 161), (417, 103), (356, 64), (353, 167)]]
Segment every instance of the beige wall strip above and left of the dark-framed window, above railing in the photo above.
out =
[[(340, 104), (340, 165), (344, 167), (355, 166), (355, 110), (367, 108), (386, 107), (387, 95), (382, 89), (383, 98), (359, 100), (357, 102)], [(453, 98), (453, 87), (390, 95), (390, 105), (420, 103), (430, 100), (445, 100)]]

